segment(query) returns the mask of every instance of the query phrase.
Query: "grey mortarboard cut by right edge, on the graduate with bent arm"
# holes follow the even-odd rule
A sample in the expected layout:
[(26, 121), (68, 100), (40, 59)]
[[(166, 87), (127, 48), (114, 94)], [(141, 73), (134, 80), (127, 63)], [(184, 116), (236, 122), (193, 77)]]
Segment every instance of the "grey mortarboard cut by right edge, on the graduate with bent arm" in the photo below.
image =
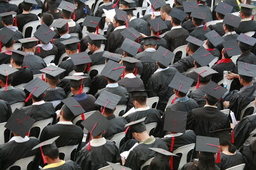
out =
[(237, 62), (238, 74), (249, 77), (256, 77), (256, 65), (247, 62)]

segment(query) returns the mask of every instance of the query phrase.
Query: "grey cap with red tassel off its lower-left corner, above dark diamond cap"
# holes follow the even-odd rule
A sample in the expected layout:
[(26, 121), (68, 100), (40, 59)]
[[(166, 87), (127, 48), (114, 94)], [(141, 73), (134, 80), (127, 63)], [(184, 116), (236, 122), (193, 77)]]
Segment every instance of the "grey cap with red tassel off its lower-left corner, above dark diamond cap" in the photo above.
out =
[(28, 92), (30, 93), (25, 102), (27, 103), (29, 98), (32, 95), (35, 96), (35, 97), (39, 97), (49, 87), (51, 87), (51, 85), (45, 83), (45, 81), (41, 80), (38, 77), (36, 77), (33, 80), (29, 81), (26, 85), (24, 85), (24, 89), (28, 90)]

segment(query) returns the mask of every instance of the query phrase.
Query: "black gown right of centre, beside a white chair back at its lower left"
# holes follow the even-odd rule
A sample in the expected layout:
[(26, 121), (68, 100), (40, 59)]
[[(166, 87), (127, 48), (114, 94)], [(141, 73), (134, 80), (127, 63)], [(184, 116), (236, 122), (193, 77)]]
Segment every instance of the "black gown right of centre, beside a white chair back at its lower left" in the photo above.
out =
[(169, 98), (173, 95), (173, 90), (168, 85), (176, 72), (175, 68), (169, 67), (169, 69), (152, 74), (148, 79), (146, 86), (146, 89), (149, 90), (148, 97), (159, 97), (157, 104), (159, 110), (164, 111)]

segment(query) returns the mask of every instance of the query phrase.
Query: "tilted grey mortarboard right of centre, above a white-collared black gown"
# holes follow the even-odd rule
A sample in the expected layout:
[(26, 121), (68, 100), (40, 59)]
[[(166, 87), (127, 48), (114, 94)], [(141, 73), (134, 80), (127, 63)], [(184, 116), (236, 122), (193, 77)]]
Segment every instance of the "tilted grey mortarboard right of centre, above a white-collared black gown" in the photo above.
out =
[(167, 50), (163, 46), (159, 46), (159, 48), (154, 53), (152, 59), (156, 60), (160, 64), (163, 64), (164, 66), (168, 67), (170, 63), (172, 62), (172, 59), (174, 57), (174, 53), (170, 50)]

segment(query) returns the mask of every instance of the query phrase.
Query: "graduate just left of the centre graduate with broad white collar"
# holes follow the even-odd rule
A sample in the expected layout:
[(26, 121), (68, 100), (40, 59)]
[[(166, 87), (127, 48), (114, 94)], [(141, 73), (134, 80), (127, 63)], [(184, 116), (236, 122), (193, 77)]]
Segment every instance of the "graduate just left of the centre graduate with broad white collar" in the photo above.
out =
[(123, 117), (115, 117), (114, 111), (116, 110), (116, 104), (120, 101), (121, 97), (111, 92), (103, 91), (95, 104), (100, 106), (100, 111), (104, 117), (106, 117), (110, 123), (109, 127), (105, 130), (104, 138), (111, 139), (115, 134), (124, 132), (126, 121)]

